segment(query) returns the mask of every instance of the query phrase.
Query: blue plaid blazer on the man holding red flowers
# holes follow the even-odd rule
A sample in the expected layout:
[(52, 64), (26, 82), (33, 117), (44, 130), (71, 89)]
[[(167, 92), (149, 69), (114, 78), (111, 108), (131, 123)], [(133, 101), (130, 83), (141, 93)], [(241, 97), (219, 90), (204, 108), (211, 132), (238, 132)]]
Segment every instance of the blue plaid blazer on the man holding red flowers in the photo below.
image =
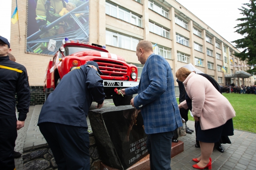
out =
[(138, 93), (133, 101), (134, 106), (141, 110), (146, 134), (173, 131), (182, 126), (172, 69), (164, 57), (151, 54), (142, 70), (139, 85), (126, 88), (125, 93)]

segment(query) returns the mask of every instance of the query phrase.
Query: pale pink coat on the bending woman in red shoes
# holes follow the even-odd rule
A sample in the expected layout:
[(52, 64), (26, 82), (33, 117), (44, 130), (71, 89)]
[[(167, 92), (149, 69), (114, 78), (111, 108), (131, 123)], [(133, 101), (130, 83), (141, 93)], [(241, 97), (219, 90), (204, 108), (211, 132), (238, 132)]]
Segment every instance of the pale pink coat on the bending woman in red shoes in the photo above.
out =
[[(192, 72), (183, 84), (192, 99), (192, 115), (199, 117), (202, 130), (217, 128), (236, 116), (228, 99), (207, 78)], [(188, 108), (186, 100), (180, 104)]]

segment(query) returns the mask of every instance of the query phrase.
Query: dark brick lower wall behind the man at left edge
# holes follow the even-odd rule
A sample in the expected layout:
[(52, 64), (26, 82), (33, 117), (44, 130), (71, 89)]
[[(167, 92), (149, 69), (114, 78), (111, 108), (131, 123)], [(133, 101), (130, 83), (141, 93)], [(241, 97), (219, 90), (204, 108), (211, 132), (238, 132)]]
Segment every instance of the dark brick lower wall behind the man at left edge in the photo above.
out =
[[(44, 104), (44, 86), (29, 86), (30, 90), (30, 106)], [(15, 95), (16, 105), (17, 95)]]

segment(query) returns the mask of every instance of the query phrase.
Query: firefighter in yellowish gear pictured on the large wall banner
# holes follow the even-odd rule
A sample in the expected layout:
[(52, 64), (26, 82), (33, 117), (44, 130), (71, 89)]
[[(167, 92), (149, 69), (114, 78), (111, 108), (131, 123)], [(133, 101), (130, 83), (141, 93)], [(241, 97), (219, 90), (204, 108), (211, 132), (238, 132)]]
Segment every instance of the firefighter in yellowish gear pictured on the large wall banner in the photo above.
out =
[[(63, 30), (63, 25), (56, 25), (47, 30), (46, 26), (51, 24), (56, 19), (60, 18), (60, 11), (66, 8), (67, 3), (64, 0), (38, 0), (36, 4), (36, 23), (39, 29), (44, 33), (40, 38), (47, 38), (60, 34), (60, 30)], [(35, 53), (41, 53), (48, 47), (47, 42), (41, 43), (35, 50)]]

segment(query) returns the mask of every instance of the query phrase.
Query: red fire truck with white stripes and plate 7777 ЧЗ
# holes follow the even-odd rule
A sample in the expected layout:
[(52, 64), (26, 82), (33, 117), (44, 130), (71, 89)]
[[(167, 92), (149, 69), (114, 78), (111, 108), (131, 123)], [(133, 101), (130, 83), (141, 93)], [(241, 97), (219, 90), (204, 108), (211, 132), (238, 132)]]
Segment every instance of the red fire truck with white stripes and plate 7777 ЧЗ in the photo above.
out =
[(95, 61), (103, 73), (105, 99), (113, 99), (116, 106), (130, 105), (132, 95), (117, 95), (115, 88), (133, 87), (137, 82), (138, 70), (133, 64), (125, 62), (124, 58), (109, 53), (102, 46), (79, 41), (62, 41), (59, 49), (56, 41), (50, 40), (48, 50), (54, 52), (53, 60), (49, 62), (45, 73), (45, 100), (56, 88), (61, 78), (74, 68), (84, 65), (88, 61)]

